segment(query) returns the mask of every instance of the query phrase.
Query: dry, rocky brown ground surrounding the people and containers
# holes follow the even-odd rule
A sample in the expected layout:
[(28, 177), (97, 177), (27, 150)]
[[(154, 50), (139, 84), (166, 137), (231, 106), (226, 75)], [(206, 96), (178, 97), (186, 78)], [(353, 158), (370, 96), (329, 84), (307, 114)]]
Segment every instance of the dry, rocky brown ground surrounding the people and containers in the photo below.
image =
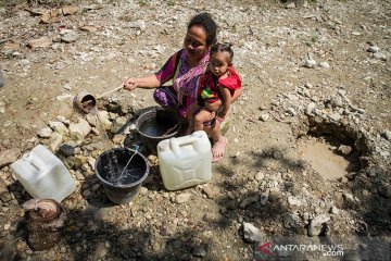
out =
[[(0, 9), (2, 260), (263, 260), (256, 246), (277, 237), (343, 243), (346, 260), (390, 259), (367, 240), (383, 244), (391, 229), (390, 1), (63, 3)], [(112, 146), (140, 145), (151, 165), (137, 199), (113, 204), (93, 170), (105, 136), (72, 100), (156, 71), (201, 11), (213, 14), (220, 41), (234, 42), (243, 80), (226, 156), (207, 184), (166, 190), (133, 125), (155, 105), (151, 92), (112, 94), (99, 102)], [(303, 142), (327, 146), (349, 170), (338, 178), (327, 164), (315, 171)], [(22, 203), (30, 196), (10, 171), (38, 144), (77, 184), (62, 201), (63, 239), (45, 251), (26, 243)], [(294, 252), (315, 258), (341, 259)]]

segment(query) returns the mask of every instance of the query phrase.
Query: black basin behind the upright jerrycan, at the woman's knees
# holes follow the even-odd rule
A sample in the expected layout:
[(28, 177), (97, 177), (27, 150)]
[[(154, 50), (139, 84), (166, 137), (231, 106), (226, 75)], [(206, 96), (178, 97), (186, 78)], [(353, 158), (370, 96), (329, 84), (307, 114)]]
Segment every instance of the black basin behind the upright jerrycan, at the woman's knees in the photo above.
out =
[(144, 112), (136, 122), (136, 128), (141, 136), (141, 141), (154, 154), (156, 154), (157, 144), (177, 136), (180, 127), (178, 116), (162, 109)]

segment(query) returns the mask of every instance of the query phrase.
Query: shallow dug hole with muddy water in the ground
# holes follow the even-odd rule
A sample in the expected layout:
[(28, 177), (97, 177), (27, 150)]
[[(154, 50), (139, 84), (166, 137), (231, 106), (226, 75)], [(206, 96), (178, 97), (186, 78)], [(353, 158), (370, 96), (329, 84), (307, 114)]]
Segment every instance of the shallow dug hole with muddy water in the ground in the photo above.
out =
[(361, 159), (368, 150), (357, 132), (341, 124), (311, 119), (304, 125), (305, 132), (301, 129), (298, 135), (298, 153), (325, 179), (339, 179), (366, 166)]

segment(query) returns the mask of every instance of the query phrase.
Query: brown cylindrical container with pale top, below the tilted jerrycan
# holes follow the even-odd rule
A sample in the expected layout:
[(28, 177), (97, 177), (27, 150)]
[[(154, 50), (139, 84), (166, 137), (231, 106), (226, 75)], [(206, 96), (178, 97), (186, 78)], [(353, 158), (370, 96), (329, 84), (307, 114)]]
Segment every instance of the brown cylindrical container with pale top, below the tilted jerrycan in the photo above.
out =
[(53, 199), (38, 200), (36, 209), (25, 212), (27, 243), (34, 251), (54, 247), (62, 238), (66, 213)]

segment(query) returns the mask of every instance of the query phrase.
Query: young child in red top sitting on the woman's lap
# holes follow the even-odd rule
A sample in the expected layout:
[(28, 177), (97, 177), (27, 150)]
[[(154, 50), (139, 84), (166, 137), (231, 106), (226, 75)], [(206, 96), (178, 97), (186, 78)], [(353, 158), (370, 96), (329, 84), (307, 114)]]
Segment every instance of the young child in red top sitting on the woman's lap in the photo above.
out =
[(231, 45), (216, 44), (211, 48), (209, 69), (200, 82), (197, 102), (189, 108), (189, 127), (201, 130), (216, 120), (223, 122), (232, 103), (232, 95), (241, 88), (241, 79), (232, 66)]

